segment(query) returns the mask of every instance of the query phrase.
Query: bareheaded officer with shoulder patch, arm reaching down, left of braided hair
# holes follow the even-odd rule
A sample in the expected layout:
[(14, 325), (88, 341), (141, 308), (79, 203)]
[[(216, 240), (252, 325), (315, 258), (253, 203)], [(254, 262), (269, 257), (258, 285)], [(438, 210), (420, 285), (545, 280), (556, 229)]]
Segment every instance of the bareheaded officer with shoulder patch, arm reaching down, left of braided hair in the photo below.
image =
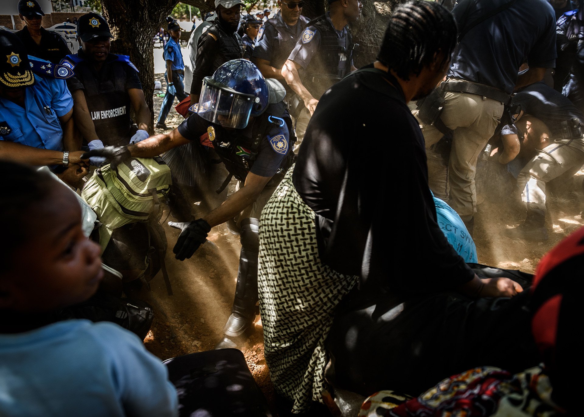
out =
[[(353, 43), (349, 23), (359, 19), (361, 0), (329, 0), (329, 11), (311, 20), (284, 63), (282, 75), (296, 93), (292, 103), (297, 117), (296, 136), (301, 141), (318, 100), (353, 65)], [(297, 110), (298, 109), (298, 110)]]

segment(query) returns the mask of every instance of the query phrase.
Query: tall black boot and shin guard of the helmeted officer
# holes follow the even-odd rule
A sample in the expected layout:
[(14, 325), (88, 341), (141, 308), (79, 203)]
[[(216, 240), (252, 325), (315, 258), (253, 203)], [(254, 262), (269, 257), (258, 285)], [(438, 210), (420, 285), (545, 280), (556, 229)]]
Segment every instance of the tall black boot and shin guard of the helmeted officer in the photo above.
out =
[(241, 254), (235, 299), (231, 315), (223, 328), (225, 337), (215, 349), (238, 347), (253, 329), (255, 305), (258, 301), (259, 220), (246, 218), (241, 222)]

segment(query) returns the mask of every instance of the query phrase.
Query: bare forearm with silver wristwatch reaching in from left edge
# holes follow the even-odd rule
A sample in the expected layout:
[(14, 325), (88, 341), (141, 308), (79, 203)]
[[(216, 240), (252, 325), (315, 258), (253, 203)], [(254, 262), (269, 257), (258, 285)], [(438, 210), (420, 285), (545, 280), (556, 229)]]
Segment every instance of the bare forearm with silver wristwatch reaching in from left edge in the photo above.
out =
[[(82, 151), (69, 153), (69, 162), (79, 164)], [(0, 140), (0, 159), (29, 165), (62, 165), (63, 152), (39, 149), (32, 146)]]

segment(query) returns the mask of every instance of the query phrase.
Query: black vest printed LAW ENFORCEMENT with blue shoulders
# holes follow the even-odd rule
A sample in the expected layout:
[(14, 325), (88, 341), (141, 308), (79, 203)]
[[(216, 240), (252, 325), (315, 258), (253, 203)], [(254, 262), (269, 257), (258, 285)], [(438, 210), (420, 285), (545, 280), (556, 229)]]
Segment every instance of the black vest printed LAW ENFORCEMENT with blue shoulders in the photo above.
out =
[[(75, 77), (84, 85), (84, 94), (93, 126), (104, 145), (127, 145), (131, 137), (130, 95), (126, 91), (126, 68), (137, 69), (127, 55), (109, 54), (104, 67), (110, 66), (113, 77), (100, 80), (91, 63), (78, 54), (62, 61), (72, 62)], [(66, 64), (65, 64), (66, 65)], [(101, 71), (109, 70), (102, 68)]]

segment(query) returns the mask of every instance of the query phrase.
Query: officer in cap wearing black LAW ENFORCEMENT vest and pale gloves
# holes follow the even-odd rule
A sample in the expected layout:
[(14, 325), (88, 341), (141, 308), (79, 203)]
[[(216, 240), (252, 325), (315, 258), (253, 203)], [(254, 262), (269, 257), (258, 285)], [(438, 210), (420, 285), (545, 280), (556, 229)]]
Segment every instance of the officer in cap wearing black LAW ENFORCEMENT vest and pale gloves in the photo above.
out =
[[(152, 120), (137, 68), (127, 55), (109, 53), (113, 36), (102, 16), (87, 13), (77, 23), (81, 48), (61, 64), (75, 72), (67, 84), (75, 101), (75, 124), (85, 142), (97, 149), (147, 138)], [(130, 106), (137, 126), (130, 118)]]

